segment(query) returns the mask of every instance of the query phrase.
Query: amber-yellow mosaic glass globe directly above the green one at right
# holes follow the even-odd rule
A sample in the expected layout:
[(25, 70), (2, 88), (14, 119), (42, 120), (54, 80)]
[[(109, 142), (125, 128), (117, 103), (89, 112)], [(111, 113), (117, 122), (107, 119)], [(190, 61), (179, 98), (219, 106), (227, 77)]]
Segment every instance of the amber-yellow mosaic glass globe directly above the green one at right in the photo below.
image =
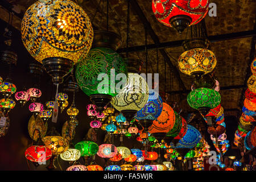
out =
[(178, 59), (179, 69), (186, 75), (193, 75), (197, 72), (210, 73), (216, 67), (216, 63), (214, 53), (203, 48), (189, 49), (183, 52)]

